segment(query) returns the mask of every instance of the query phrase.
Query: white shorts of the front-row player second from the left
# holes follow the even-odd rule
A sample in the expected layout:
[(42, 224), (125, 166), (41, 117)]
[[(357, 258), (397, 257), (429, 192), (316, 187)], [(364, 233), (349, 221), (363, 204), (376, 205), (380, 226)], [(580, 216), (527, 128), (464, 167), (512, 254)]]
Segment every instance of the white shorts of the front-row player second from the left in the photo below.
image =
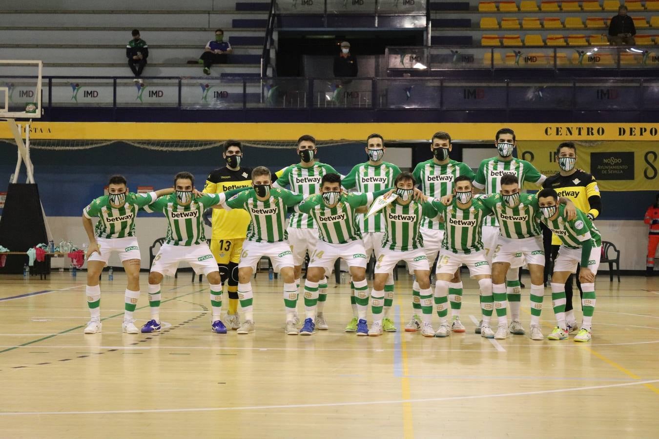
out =
[(173, 276), (179, 263), (186, 262), (197, 274), (204, 276), (219, 271), (215, 257), (208, 244), (196, 245), (170, 245), (163, 244), (154, 258), (151, 271), (159, 272), (165, 276)]

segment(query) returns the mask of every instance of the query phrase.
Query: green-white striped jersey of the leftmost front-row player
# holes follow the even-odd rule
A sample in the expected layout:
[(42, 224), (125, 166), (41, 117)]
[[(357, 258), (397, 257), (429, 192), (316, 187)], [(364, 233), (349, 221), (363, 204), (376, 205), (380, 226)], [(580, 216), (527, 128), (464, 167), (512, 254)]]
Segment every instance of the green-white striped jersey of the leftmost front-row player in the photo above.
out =
[(82, 215), (92, 219), (99, 217), (94, 228), (98, 238), (126, 238), (135, 236), (135, 217), (140, 207), (156, 201), (156, 193), (126, 195), (126, 203), (117, 209), (110, 205), (107, 195), (98, 197), (82, 210)]

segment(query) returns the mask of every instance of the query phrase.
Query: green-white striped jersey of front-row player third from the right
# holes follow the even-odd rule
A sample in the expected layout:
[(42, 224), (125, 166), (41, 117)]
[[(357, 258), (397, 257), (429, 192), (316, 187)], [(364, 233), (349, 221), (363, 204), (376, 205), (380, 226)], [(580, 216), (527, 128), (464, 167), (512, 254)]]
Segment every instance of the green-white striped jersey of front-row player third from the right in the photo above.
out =
[(448, 206), (442, 201), (433, 200), (432, 207), (444, 215), (446, 231), (442, 240), (443, 249), (465, 255), (483, 249), (483, 220), (493, 212), (480, 199), (472, 199), (471, 206), (467, 209), (459, 208), (455, 197)]

